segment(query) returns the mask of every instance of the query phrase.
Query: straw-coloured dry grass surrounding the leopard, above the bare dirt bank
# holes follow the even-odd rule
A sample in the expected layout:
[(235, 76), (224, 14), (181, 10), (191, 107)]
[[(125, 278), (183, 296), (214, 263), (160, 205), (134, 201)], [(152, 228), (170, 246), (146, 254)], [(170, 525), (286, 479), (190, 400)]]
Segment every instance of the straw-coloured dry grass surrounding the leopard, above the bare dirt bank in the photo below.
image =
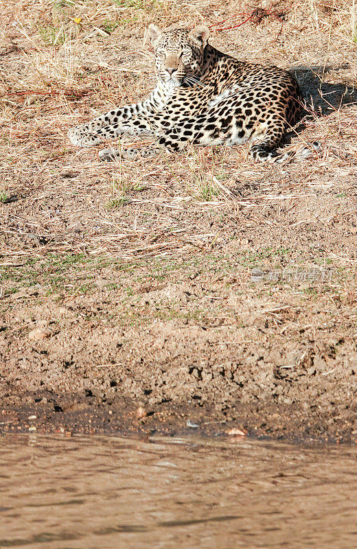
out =
[[(126, 260), (211, 250), (220, 231), (197, 220), (212, 212), (242, 228), (353, 212), (353, 200), (341, 206), (333, 195), (317, 205), (310, 198), (337, 188), (349, 194), (356, 184), (356, 4), (263, 5), (260, 12), (253, 3), (238, 12), (234, 3), (172, 0), (2, 5), (3, 264), (55, 251)], [(295, 69), (310, 115), (292, 132), (292, 146), (321, 141), (323, 152), (303, 165), (275, 166), (253, 164), (245, 147), (189, 148), (137, 163), (101, 163), (95, 148), (76, 150), (69, 127), (152, 88), (150, 21), (205, 21), (224, 51)], [(266, 218), (271, 207), (284, 215)], [(40, 235), (38, 246), (29, 233)]]

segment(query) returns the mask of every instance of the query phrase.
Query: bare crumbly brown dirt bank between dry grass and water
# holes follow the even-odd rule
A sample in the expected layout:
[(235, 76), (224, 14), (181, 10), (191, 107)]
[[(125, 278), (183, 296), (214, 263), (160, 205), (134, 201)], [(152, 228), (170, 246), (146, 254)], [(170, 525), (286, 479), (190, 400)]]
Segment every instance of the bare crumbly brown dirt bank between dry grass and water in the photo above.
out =
[[(349, 268), (284, 267), (295, 248), (287, 236), (275, 270), (242, 265), (231, 242), (220, 268), (214, 253), (202, 252), (180, 266), (143, 261), (123, 270), (73, 256), (27, 266), (27, 283), (3, 310), (2, 428), (23, 428), (35, 414), (45, 430), (181, 431), (190, 420), (209, 432), (236, 425), (259, 435), (353, 439), (353, 278)], [(262, 250), (264, 231), (259, 241)], [(65, 290), (54, 294), (52, 277), (63, 277)]]

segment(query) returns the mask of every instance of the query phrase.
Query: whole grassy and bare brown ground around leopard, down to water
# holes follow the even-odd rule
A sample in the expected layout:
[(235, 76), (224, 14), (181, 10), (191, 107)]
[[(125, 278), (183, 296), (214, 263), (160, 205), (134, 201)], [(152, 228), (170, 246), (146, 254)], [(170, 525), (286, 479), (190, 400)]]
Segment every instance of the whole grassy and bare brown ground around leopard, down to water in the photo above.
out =
[[(226, 29), (247, 17), (233, 3), (119, 4), (1, 8), (0, 430), (189, 421), (353, 441), (351, 6), (279, 3)], [(104, 164), (71, 145), (69, 127), (150, 89), (148, 22), (194, 25), (197, 10), (224, 51), (295, 69), (310, 115), (290, 146), (321, 141), (320, 156), (255, 165), (244, 147), (192, 148)]]

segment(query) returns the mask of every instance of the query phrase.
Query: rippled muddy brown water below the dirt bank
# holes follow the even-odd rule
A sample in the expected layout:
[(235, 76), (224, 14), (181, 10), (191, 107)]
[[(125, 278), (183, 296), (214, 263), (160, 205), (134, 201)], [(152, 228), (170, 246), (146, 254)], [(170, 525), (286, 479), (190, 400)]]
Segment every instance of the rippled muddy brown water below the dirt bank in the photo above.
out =
[(6, 436), (0, 547), (353, 549), (356, 449)]

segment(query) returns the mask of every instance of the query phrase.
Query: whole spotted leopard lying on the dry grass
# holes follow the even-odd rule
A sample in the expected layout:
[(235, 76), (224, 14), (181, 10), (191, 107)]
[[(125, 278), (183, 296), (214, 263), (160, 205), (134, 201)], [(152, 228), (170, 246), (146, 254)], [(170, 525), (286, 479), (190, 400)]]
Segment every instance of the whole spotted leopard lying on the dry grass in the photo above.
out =
[[(183, 152), (187, 145), (240, 145), (249, 142), (253, 161), (284, 161), (284, 136), (299, 124), (303, 97), (285, 69), (238, 60), (209, 43), (209, 28), (161, 30), (151, 23), (157, 85), (143, 101), (115, 108), (69, 130), (74, 145), (90, 146), (123, 136), (154, 139), (144, 148), (104, 149), (101, 160)], [(302, 158), (319, 150), (308, 143)]]

